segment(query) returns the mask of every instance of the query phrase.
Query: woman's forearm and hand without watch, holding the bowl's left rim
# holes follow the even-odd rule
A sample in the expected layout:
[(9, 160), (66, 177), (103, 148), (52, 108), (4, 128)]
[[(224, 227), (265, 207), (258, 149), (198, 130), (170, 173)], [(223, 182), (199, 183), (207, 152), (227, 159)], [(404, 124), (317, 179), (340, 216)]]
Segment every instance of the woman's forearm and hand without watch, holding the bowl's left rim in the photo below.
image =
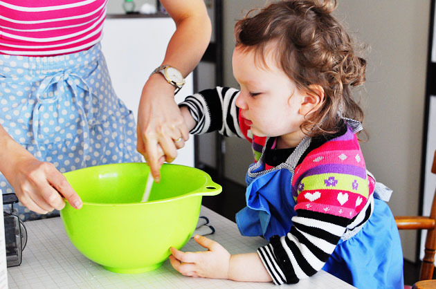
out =
[(62, 209), (65, 206), (62, 196), (76, 209), (82, 207), (80, 197), (60, 171), (50, 162), (37, 160), (1, 125), (0, 147), (0, 171), (28, 209), (38, 214)]

